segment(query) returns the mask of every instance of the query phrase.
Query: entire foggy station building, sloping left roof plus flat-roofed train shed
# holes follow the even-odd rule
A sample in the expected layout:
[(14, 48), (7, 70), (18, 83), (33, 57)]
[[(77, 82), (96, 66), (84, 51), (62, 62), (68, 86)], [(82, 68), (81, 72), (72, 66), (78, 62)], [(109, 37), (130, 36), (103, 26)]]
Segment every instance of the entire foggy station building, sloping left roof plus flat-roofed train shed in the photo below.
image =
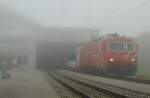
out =
[(68, 52), (97, 32), (91, 28), (46, 28), (5, 7), (0, 7), (0, 15), (1, 65), (11, 58), (20, 68), (63, 67)]

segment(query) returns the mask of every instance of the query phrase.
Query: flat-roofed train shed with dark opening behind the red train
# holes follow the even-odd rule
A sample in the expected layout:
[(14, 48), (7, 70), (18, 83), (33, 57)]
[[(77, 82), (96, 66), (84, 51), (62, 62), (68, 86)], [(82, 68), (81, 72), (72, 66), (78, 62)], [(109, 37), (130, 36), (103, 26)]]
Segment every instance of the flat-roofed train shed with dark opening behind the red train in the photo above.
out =
[(36, 36), (37, 68), (63, 68), (71, 51), (92, 40), (91, 28), (45, 28)]

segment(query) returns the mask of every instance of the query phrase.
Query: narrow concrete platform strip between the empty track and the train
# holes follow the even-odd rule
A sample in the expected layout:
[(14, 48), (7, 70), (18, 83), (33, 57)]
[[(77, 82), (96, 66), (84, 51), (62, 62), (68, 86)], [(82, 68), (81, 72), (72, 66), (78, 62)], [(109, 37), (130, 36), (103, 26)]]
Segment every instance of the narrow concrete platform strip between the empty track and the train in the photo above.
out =
[(73, 72), (73, 71), (67, 71), (67, 70), (62, 70), (60, 72), (74, 75), (74, 76), (77, 76), (77, 77), (80, 77), (83, 79), (88, 79), (88, 80), (92, 80), (92, 81), (96, 81), (96, 82), (100, 82), (100, 83), (113, 85), (113, 86), (120, 87), (120, 88), (125, 88), (125, 89), (129, 89), (129, 90), (137, 91), (137, 92), (150, 94), (150, 85), (148, 85), (148, 84), (141, 84), (141, 83), (136, 83), (136, 82), (131, 82), (131, 81), (105, 78), (105, 77), (94, 76), (94, 75), (78, 73), (78, 72)]

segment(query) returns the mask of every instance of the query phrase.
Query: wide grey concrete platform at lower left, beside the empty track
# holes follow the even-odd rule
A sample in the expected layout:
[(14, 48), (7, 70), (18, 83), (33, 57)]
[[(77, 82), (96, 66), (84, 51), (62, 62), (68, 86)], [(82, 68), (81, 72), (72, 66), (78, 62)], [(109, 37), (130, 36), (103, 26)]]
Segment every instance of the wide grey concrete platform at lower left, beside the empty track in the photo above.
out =
[(58, 98), (38, 70), (13, 70), (11, 79), (0, 79), (0, 98)]

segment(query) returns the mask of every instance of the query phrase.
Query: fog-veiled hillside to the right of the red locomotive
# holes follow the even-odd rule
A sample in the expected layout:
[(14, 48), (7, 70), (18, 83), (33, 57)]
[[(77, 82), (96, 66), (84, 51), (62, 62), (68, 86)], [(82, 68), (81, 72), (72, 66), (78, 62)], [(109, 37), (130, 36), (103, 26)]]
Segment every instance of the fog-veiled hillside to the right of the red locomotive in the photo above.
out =
[(150, 76), (150, 33), (141, 33), (138, 37), (139, 64), (138, 74)]

